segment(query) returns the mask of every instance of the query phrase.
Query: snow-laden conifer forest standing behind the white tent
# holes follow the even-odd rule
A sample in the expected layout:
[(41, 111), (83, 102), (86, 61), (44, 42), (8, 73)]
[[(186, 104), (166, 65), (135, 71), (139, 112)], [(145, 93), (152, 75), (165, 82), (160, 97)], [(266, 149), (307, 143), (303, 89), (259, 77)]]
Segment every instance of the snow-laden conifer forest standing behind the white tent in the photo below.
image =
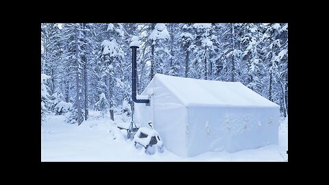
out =
[(241, 82), (287, 116), (287, 23), (42, 23), (41, 123), (50, 112), (78, 125), (88, 110), (129, 118), (132, 36), (139, 94), (156, 73)]

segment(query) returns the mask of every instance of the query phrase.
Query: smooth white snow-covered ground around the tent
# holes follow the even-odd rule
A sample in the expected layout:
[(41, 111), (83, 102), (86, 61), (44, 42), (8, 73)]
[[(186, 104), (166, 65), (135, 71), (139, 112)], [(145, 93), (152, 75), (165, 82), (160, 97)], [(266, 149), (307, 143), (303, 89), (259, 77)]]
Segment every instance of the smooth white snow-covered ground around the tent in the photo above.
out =
[[(110, 132), (114, 123), (108, 115), (97, 118), (90, 111), (82, 125), (66, 123), (64, 116), (49, 115), (41, 126), (41, 161), (284, 161), (288, 160), (288, 121), (280, 121), (279, 145), (247, 149), (235, 153), (206, 152), (191, 158), (181, 158), (164, 148), (163, 153), (148, 155), (136, 149), (131, 140)], [(121, 121), (120, 115), (114, 116)], [(116, 139), (113, 139), (116, 136)], [(124, 132), (123, 132), (124, 133)], [(164, 143), (165, 147), (165, 143)]]

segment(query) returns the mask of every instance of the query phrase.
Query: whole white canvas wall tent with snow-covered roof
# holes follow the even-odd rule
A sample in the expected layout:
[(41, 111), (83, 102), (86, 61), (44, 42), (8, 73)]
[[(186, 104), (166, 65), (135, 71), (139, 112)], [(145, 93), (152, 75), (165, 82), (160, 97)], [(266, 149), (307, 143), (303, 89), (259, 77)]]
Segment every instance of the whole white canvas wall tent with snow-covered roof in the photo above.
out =
[(135, 103), (135, 123), (152, 122), (178, 156), (278, 143), (280, 106), (240, 82), (156, 74), (141, 95), (150, 103)]

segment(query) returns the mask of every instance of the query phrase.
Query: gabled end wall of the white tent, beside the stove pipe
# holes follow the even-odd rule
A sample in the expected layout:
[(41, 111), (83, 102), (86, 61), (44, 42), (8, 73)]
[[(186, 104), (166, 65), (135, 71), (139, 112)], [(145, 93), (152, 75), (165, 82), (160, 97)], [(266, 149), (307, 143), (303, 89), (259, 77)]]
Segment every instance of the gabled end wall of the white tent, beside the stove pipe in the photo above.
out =
[(179, 156), (186, 156), (186, 107), (156, 78), (141, 95), (154, 94), (150, 106), (135, 103), (134, 119), (145, 127), (152, 121), (164, 147)]

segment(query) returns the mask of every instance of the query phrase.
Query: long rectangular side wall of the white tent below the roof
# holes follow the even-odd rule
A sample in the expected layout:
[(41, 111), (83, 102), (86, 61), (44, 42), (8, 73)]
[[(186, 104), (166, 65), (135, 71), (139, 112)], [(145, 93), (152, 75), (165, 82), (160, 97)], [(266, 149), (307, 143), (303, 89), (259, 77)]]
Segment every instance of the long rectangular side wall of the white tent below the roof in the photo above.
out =
[(187, 109), (187, 155), (235, 152), (278, 144), (279, 107), (191, 107)]

